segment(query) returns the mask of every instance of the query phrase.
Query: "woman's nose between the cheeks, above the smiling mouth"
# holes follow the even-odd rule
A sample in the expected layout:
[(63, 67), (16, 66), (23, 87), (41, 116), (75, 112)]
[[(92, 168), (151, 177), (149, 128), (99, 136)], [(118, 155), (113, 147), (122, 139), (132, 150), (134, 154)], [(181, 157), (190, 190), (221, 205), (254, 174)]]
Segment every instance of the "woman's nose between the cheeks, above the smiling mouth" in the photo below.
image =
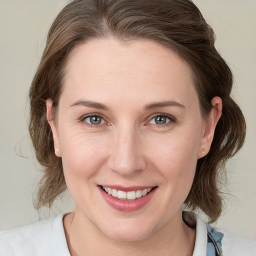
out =
[(139, 131), (133, 126), (119, 128), (111, 143), (109, 168), (122, 176), (130, 176), (146, 167)]

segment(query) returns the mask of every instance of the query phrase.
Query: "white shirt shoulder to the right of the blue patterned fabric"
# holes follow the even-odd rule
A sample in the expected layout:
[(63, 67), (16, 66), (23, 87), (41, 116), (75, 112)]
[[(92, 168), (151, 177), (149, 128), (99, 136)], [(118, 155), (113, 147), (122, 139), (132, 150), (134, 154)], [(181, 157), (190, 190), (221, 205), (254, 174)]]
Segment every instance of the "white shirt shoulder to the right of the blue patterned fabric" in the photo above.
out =
[(256, 241), (250, 240), (240, 235), (231, 234), (220, 228), (214, 228), (217, 232), (223, 234), (222, 252), (223, 256), (255, 256)]

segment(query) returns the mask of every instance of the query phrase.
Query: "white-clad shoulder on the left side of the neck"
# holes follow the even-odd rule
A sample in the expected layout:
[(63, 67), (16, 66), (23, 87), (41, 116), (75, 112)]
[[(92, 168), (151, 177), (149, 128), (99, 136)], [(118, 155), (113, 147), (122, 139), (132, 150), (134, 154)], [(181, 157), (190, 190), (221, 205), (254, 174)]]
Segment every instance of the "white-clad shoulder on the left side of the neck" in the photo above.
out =
[(33, 224), (1, 231), (0, 255), (56, 255), (54, 254), (56, 243), (63, 243), (67, 246), (62, 218), (63, 214), (55, 218), (49, 218)]

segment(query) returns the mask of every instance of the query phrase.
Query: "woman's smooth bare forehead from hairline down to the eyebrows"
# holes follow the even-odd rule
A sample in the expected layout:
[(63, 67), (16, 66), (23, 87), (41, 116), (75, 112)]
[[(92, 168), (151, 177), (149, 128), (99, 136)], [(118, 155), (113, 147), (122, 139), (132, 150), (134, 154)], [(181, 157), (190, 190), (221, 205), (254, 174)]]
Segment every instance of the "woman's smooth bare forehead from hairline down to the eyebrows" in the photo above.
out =
[(70, 53), (66, 70), (63, 92), (72, 91), (73, 100), (82, 95), (151, 101), (197, 97), (189, 65), (150, 40), (82, 43)]

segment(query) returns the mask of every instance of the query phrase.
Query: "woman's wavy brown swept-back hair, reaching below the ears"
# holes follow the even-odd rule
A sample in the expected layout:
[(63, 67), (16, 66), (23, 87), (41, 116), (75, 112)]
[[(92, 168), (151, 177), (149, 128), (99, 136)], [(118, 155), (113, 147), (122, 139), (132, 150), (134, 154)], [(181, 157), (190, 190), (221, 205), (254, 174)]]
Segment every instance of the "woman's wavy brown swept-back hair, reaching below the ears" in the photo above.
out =
[(211, 99), (222, 99), (222, 115), (211, 148), (197, 160), (184, 202), (191, 210), (202, 210), (210, 222), (215, 221), (222, 210), (220, 177), (225, 173), (225, 162), (243, 144), (245, 120), (230, 97), (232, 73), (214, 47), (214, 32), (191, 0), (74, 0), (57, 15), (29, 90), (29, 132), (43, 166), (36, 208), (50, 207), (66, 189), (61, 158), (54, 154), (45, 101), (52, 100), (54, 116), (70, 52), (78, 44), (104, 37), (152, 40), (176, 52), (193, 71), (204, 119), (212, 108)]

